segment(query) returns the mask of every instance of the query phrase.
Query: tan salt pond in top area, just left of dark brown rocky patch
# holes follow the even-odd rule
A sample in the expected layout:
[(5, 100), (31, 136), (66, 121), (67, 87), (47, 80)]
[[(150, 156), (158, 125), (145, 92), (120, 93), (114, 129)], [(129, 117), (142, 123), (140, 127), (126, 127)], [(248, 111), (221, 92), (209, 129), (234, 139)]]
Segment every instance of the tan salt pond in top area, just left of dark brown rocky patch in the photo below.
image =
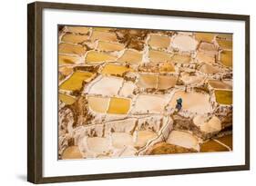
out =
[(110, 32), (102, 32), (102, 31), (97, 31), (94, 30), (90, 40), (92, 41), (106, 41), (106, 42), (118, 42), (117, 35), (115, 33), (110, 33)]

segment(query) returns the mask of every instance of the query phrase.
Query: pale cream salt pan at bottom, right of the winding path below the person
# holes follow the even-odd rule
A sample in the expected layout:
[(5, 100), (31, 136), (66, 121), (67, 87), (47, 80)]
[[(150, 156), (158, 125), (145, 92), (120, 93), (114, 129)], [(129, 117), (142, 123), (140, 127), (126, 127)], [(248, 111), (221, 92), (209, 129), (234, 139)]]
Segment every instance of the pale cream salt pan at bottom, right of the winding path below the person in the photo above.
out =
[(200, 152), (199, 140), (189, 132), (172, 131), (169, 134), (167, 142)]

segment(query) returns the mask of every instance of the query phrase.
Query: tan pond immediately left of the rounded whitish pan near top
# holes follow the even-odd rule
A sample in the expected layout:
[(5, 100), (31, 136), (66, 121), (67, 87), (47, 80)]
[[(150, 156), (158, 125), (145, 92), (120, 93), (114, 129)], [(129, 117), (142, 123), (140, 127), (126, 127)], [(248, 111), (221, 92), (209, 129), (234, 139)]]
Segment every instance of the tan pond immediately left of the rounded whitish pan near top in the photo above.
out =
[(170, 39), (165, 35), (151, 35), (148, 41), (148, 45), (156, 48), (168, 48)]

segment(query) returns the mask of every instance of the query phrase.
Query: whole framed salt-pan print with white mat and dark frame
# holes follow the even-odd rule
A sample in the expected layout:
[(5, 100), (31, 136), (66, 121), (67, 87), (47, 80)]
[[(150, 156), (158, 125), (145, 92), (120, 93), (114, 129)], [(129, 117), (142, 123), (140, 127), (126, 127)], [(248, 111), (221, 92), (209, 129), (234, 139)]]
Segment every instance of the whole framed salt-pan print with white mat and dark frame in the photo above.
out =
[(36, 2), (27, 179), (250, 169), (250, 16)]

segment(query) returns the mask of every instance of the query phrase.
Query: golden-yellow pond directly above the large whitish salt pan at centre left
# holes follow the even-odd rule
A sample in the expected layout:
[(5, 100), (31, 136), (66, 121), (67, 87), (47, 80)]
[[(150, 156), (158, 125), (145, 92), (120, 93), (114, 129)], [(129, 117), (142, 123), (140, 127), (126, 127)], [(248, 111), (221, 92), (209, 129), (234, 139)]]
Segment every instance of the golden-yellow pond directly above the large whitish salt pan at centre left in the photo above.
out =
[(103, 67), (101, 73), (102, 74), (112, 74), (112, 75), (122, 75), (129, 71), (132, 71), (132, 69), (128, 68), (126, 66), (122, 66), (122, 65), (118, 65), (118, 64), (106, 64)]

